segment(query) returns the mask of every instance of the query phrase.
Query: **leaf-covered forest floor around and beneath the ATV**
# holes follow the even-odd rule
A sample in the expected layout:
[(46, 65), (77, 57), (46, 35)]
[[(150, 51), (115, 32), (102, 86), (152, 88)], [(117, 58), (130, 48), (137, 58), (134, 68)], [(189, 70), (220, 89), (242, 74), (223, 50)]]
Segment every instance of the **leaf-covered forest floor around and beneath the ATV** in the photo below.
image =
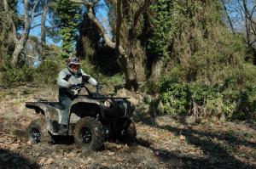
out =
[(0, 168), (256, 168), (256, 125), (247, 121), (138, 115), (133, 145), (107, 142), (96, 152), (72, 142), (32, 145), (26, 127), (36, 114), (25, 102), (37, 99), (57, 100), (56, 87), (1, 88)]

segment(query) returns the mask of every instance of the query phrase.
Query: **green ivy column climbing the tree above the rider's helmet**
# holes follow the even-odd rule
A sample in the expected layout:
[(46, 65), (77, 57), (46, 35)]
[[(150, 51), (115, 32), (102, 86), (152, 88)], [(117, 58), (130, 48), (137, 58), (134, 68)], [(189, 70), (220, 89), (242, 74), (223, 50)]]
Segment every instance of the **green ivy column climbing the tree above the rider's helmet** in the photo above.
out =
[(61, 58), (68, 58), (75, 49), (74, 40), (77, 37), (77, 28), (82, 16), (82, 10), (69, 0), (58, 0), (55, 7), (61, 25), (62, 53)]

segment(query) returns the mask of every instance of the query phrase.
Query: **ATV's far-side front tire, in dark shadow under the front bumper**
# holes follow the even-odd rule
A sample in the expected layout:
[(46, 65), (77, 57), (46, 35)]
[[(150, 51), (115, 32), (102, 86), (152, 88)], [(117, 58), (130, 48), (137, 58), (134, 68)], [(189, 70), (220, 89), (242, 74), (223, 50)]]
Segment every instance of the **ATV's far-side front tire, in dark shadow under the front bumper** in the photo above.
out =
[(124, 143), (134, 144), (136, 143), (136, 140), (137, 140), (136, 136), (137, 136), (137, 129), (135, 126), (135, 122), (132, 121), (130, 126), (119, 135), (119, 139)]

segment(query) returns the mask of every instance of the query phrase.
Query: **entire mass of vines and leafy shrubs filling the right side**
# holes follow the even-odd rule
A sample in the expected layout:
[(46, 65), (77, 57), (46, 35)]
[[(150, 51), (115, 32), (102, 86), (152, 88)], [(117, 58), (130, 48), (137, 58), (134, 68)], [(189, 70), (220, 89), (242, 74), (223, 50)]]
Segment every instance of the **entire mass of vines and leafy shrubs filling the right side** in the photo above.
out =
[(151, 9), (155, 29), (150, 48), (166, 60), (167, 69), (166, 78), (148, 88), (160, 93), (164, 111), (252, 118), (256, 69), (243, 64), (243, 37), (224, 26), (219, 1), (157, 0)]

